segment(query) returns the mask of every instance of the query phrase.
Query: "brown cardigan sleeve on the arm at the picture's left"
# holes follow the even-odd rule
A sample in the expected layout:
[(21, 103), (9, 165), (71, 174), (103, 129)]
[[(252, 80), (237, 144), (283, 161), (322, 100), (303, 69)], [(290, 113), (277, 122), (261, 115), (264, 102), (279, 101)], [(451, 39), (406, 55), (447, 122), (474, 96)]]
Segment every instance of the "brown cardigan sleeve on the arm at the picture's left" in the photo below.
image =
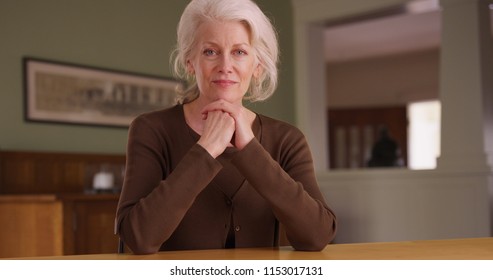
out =
[(171, 171), (164, 141), (144, 118), (130, 127), (115, 231), (136, 254), (157, 252), (222, 168), (195, 144)]

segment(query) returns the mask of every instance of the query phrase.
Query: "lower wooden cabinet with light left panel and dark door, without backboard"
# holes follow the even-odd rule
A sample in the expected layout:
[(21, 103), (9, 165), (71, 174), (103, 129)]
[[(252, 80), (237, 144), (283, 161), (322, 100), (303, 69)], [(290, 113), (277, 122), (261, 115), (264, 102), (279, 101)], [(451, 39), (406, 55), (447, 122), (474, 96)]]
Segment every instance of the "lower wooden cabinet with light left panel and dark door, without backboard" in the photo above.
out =
[(116, 253), (117, 194), (1, 195), (0, 258)]

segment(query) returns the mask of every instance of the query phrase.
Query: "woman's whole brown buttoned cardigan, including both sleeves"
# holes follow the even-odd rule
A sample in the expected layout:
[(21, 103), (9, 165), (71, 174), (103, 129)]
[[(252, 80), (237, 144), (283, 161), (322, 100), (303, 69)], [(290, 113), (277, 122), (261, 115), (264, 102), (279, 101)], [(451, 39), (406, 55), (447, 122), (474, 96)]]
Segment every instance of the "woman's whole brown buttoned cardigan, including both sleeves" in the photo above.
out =
[(305, 137), (263, 115), (253, 131), (243, 150), (214, 159), (196, 144), (181, 105), (136, 118), (115, 224), (125, 244), (136, 254), (212, 249), (229, 236), (235, 247), (271, 247), (280, 222), (295, 249), (323, 249), (336, 219)]

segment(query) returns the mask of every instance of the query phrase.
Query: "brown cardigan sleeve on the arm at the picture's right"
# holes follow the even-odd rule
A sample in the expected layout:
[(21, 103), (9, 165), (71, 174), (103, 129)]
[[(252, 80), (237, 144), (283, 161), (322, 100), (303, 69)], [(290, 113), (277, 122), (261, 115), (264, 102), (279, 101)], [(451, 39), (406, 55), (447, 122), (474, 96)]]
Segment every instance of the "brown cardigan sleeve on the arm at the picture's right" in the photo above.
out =
[(335, 236), (336, 217), (320, 192), (305, 137), (288, 137), (278, 161), (253, 139), (232, 162), (271, 205), (295, 249), (322, 250)]

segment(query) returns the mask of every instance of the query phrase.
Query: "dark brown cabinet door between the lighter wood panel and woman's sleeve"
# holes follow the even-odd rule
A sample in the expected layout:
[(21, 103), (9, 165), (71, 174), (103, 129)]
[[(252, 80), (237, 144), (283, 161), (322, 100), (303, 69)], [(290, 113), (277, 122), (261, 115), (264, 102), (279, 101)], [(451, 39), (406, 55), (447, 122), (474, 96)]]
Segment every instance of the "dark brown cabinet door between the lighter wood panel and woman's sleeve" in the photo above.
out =
[(116, 200), (74, 203), (75, 254), (116, 253), (118, 237), (113, 233)]

